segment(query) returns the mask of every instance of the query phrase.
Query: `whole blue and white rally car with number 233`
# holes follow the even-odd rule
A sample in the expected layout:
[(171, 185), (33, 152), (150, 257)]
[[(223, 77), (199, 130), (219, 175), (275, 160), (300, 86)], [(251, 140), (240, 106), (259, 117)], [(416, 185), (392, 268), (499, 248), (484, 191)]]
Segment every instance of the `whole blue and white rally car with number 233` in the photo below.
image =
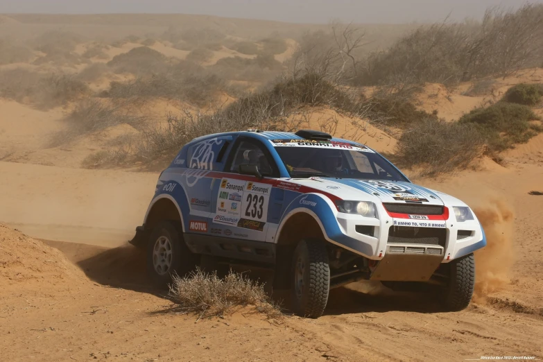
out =
[(472, 298), (486, 245), (464, 202), (411, 183), (374, 150), (323, 132), (228, 132), (194, 139), (162, 172), (135, 245), (166, 284), (196, 266), (273, 271), (300, 316), (361, 279), (424, 288), (449, 311)]

